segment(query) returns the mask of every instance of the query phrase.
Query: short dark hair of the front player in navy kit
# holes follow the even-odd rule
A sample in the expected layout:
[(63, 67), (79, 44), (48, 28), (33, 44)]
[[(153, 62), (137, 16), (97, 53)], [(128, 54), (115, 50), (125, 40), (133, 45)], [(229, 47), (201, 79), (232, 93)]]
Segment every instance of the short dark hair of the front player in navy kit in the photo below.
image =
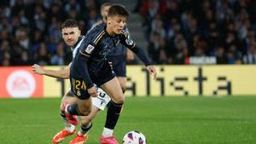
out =
[(125, 9), (125, 7), (123, 5), (113, 4), (108, 9), (108, 16), (115, 16), (115, 15), (121, 15), (121, 16), (128, 17), (129, 12)]

